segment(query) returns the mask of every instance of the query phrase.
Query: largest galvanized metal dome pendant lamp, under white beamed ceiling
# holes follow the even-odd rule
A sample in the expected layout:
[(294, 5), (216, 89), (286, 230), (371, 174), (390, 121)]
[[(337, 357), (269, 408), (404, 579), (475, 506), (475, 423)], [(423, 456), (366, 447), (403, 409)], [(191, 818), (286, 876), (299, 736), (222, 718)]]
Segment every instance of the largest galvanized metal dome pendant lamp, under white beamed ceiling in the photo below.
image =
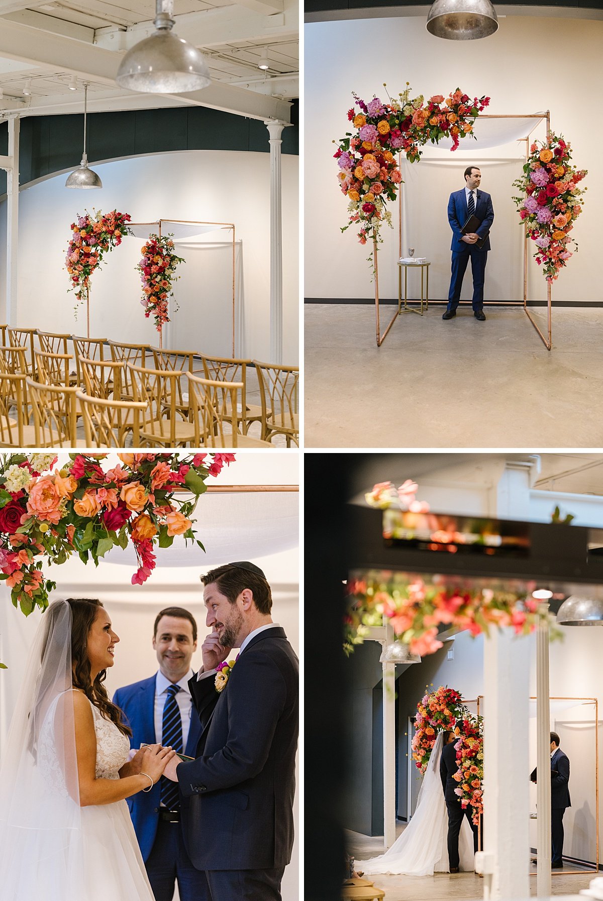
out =
[(146, 94), (183, 94), (211, 84), (203, 54), (172, 33), (174, 0), (157, 0), (150, 38), (135, 44), (122, 59), (116, 82)]

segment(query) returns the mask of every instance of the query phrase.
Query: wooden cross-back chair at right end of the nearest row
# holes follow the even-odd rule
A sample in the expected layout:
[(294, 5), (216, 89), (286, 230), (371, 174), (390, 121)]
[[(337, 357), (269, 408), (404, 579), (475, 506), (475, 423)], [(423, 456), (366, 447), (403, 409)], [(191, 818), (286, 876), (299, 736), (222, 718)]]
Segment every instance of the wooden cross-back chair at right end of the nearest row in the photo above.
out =
[(273, 447), (270, 441), (239, 432), (242, 382), (200, 378), (191, 372), (187, 372), (187, 379), (196, 447)]

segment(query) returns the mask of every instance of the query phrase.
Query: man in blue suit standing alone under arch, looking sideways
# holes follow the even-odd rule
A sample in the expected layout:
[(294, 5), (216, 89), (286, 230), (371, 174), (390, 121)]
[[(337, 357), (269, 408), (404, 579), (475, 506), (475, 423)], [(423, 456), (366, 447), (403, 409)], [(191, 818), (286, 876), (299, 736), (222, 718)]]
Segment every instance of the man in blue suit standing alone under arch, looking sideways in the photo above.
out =
[[(465, 187), (460, 191), (454, 191), (448, 201), (448, 222), (452, 228), (452, 278), (448, 292), (448, 306), (443, 319), (452, 319), (452, 316), (456, 315), (456, 308), (461, 299), (462, 279), (470, 257), (473, 276), (473, 315), (480, 322), (486, 318), (483, 311), (484, 278), (490, 249), (488, 232), (494, 222), (494, 209), (489, 194), (479, 190), (480, 182), (480, 169), (477, 166), (468, 166), (465, 169)], [(476, 232), (462, 234), (461, 228), (471, 215), (475, 215), (481, 224)], [(486, 241), (482, 247), (478, 247), (478, 241), (484, 236)]]

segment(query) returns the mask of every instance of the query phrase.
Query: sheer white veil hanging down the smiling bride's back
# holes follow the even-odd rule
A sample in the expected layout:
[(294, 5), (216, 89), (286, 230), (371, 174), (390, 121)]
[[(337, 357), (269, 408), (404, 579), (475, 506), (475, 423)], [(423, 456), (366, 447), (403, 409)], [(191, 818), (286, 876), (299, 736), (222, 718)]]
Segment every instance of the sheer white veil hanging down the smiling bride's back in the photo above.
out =
[(0, 767), (3, 901), (74, 899), (83, 839), (71, 695), (71, 608), (42, 615)]

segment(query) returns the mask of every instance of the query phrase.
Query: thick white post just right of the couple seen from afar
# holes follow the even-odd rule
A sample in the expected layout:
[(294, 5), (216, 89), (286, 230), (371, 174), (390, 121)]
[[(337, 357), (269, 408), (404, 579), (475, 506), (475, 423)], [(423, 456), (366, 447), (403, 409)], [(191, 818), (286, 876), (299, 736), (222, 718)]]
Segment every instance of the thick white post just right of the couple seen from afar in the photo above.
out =
[(484, 841), (489, 897), (530, 895), (529, 645), (511, 629), (484, 640)]

